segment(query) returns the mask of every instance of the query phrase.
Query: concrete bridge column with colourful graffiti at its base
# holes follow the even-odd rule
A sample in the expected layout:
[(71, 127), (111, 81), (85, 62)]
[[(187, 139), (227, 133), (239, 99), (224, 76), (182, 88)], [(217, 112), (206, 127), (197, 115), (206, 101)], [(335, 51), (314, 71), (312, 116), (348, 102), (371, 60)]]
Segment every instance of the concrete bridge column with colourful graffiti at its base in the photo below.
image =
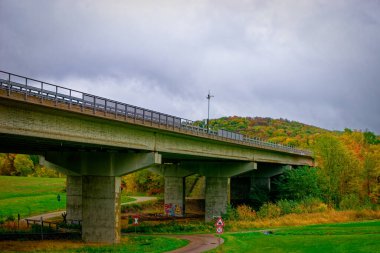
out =
[(175, 216), (185, 215), (185, 177), (165, 177), (165, 204), (171, 204)]

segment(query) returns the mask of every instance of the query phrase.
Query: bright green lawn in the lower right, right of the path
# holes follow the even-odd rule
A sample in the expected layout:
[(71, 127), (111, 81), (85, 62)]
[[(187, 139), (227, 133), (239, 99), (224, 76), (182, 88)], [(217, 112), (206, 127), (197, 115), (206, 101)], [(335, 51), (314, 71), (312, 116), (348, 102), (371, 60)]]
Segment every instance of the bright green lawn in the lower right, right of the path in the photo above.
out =
[(225, 244), (210, 252), (378, 252), (380, 221), (288, 227), (273, 234), (224, 234)]

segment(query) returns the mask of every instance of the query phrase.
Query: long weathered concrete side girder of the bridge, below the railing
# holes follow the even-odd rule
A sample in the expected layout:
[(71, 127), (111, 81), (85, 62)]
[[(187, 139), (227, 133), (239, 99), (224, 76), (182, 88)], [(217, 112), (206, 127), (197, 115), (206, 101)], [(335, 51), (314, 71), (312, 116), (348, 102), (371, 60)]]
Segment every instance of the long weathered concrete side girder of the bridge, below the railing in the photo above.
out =
[[(171, 129), (163, 125), (142, 126), (126, 122), (125, 116), (102, 117), (86, 115), (82, 108), (60, 108), (54, 101), (33, 100), (32, 96), (22, 95), (21, 100), (10, 100), (0, 90), (0, 142), (6, 152), (22, 150), (36, 152), (43, 143), (56, 149), (78, 148), (77, 144), (96, 149), (111, 148), (118, 150), (152, 150), (160, 152), (168, 159), (194, 158), (205, 160), (229, 159), (235, 161), (255, 161), (292, 165), (312, 165), (311, 156), (298, 155), (287, 151), (273, 151), (261, 146), (246, 145), (242, 142), (209, 136), (206, 133), (194, 133), (185, 129)], [(13, 93), (17, 95), (17, 93)], [(50, 105), (48, 105), (51, 103)], [(66, 106), (66, 104), (61, 104)], [(50, 107), (52, 106), (52, 107)], [(120, 119), (121, 121), (119, 121)], [(22, 138), (28, 145), (13, 145), (9, 139)], [(4, 139), (2, 139), (4, 138)], [(16, 138), (16, 139), (18, 139)], [(35, 142), (37, 140), (37, 142)], [(43, 140), (41, 143), (38, 140)], [(16, 142), (17, 143), (17, 142)], [(72, 144), (75, 144), (71, 146)], [(42, 150), (46, 150), (44, 147)], [(62, 166), (65, 167), (65, 166)]]

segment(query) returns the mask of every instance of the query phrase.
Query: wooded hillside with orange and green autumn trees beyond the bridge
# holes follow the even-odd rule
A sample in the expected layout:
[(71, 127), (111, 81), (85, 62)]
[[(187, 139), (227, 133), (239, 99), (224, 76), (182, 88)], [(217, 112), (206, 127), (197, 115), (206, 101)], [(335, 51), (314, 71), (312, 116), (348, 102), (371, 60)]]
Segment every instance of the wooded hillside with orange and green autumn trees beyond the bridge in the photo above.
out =
[[(204, 126), (204, 121), (197, 123)], [(310, 180), (314, 180), (317, 187), (316, 192), (311, 195), (323, 199), (326, 203), (333, 206), (340, 206), (347, 201), (356, 201), (357, 205), (364, 204), (365, 201), (378, 203), (380, 138), (370, 131), (347, 128), (344, 131), (329, 131), (286, 119), (237, 116), (212, 119), (210, 128), (225, 129), (313, 151), (317, 174), (302, 175), (303, 172), (298, 172), (298, 175), (293, 171), (291, 173), (295, 175), (288, 176), (296, 178), (295, 184), (299, 184), (300, 181), (310, 183)], [(287, 182), (289, 180), (286, 179)], [(297, 185), (296, 188), (308, 187)], [(286, 191), (284, 192), (286, 194)], [(288, 196), (297, 194), (295, 191), (288, 192)]]

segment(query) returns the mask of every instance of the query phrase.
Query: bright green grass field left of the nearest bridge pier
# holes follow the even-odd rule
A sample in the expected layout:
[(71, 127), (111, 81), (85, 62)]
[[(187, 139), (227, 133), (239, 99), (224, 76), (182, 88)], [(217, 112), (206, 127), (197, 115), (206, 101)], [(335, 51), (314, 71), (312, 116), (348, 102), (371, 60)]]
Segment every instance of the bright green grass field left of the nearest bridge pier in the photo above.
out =
[(17, 214), (25, 218), (66, 208), (65, 185), (65, 178), (0, 176), (0, 219)]

